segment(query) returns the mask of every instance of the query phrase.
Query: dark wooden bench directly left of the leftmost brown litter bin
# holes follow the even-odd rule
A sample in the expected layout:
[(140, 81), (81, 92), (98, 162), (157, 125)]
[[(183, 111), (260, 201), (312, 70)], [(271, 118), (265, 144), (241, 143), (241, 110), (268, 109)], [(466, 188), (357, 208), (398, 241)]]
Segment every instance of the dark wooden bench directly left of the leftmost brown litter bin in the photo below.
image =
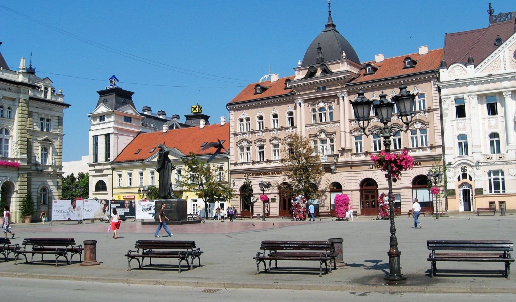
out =
[[(72, 262), (72, 257), (75, 254), (79, 254), (79, 262), (82, 261), (84, 250), (82, 245), (75, 245), (73, 238), (25, 238), (22, 245), (23, 249), (13, 251), (16, 254), (14, 264), (17, 264), (20, 255), (23, 255), (25, 261), (29, 262), (27, 254), (32, 254), (30, 262), (33, 262), (35, 254), (41, 254), (41, 261), (43, 261), (44, 254), (53, 254), (56, 256), (56, 266), (59, 257), (65, 257), (68, 265)], [(27, 249), (27, 247), (31, 247), (31, 249)], [(68, 260), (68, 253), (70, 253), (70, 260)]]

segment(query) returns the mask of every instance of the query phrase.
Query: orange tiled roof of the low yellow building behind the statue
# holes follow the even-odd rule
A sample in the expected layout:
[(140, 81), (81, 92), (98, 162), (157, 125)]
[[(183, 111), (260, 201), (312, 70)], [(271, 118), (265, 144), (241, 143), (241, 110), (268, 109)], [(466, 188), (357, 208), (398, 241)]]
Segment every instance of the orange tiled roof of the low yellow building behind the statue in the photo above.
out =
[[(215, 148), (201, 151), (200, 146), (204, 142), (216, 142), (217, 139), (225, 141), (222, 144), (225, 148), (230, 147), (229, 123), (224, 124), (224, 126), (220, 126), (220, 124), (207, 125), (202, 129), (199, 127), (191, 127), (168, 130), (165, 133), (162, 131), (140, 133), (125, 147), (114, 162), (144, 160), (157, 153), (159, 150), (156, 148), (153, 152), (150, 152), (152, 148), (164, 142), (168, 148), (176, 148), (186, 155), (188, 155), (190, 151), (197, 155), (212, 154), (215, 152)], [(135, 154), (138, 149), (140, 149), (140, 152)]]

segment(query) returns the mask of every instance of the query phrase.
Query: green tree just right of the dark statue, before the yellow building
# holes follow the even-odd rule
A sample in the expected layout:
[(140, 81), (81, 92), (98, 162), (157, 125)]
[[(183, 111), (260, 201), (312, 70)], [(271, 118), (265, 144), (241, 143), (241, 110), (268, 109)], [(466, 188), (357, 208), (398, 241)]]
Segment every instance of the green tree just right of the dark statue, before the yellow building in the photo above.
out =
[(190, 152), (188, 157), (182, 158), (186, 166), (187, 175), (182, 181), (176, 183), (176, 187), (183, 191), (192, 191), (204, 202), (204, 214), (208, 216), (208, 203), (215, 203), (220, 200), (231, 200), (233, 189), (222, 180), (217, 180), (217, 169), (213, 164), (207, 164)]

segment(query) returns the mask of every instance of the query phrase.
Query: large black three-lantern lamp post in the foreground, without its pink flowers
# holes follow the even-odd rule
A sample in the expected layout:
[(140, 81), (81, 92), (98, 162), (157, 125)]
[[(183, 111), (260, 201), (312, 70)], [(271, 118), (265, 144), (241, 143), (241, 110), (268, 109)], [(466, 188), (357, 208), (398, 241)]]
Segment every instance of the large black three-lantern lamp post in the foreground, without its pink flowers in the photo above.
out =
[[(409, 124), (412, 121), (413, 116), (413, 108), (414, 108), (414, 99), (416, 94), (407, 92), (407, 86), (401, 82), (401, 86), (399, 87), (399, 93), (397, 95), (392, 96), (391, 100), (394, 102), (389, 102), (386, 98), (387, 95), (385, 93), (380, 94), (380, 100), (373, 101), (365, 97), (365, 91), (360, 89), (358, 91), (358, 97), (355, 100), (350, 100), (351, 106), (353, 107), (353, 112), (355, 115), (355, 119), (358, 122), (359, 127), (364, 132), (365, 136), (377, 135), (378, 137), (383, 137), (383, 145), (385, 146), (385, 152), (391, 152), (391, 136), (396, 135), (398, 132), (407, 132), (409, 129)], [(388, 125), (391, 122), (392, 109), (396, 104), (396, 107), (399, 111), (399, 119), (405, 124), (405, 128), (401, 128), (398, 125)], [(378, 115), (378, 119), (380, 123), (383, 123), (383, 128), (377, 128), (373, 131), (369, 130), (367, 133), (367, 127), (369, 126), (369, 122), (371, 121), (370, 113), (371, 107), (374, 107), (376, 110), (376, 114)], [(390, 249), (387, 252), (387, 256), (389, 256), (389, 274), (383, 277), (385, 280), (389, 281), (402, 281), (407, 279), (405, 275), (401, 274), (399, 256), (401, 252), (398, 250), (398, 241), (396, 239), (396, 228), (394, 226), (394, 198), (392, 195), (392, 167), (388, 165), (387, 167), (387, 181), (389, 183), (389, 220), (391, 222), (390, 232), (391, 237), (389, 241)]]

